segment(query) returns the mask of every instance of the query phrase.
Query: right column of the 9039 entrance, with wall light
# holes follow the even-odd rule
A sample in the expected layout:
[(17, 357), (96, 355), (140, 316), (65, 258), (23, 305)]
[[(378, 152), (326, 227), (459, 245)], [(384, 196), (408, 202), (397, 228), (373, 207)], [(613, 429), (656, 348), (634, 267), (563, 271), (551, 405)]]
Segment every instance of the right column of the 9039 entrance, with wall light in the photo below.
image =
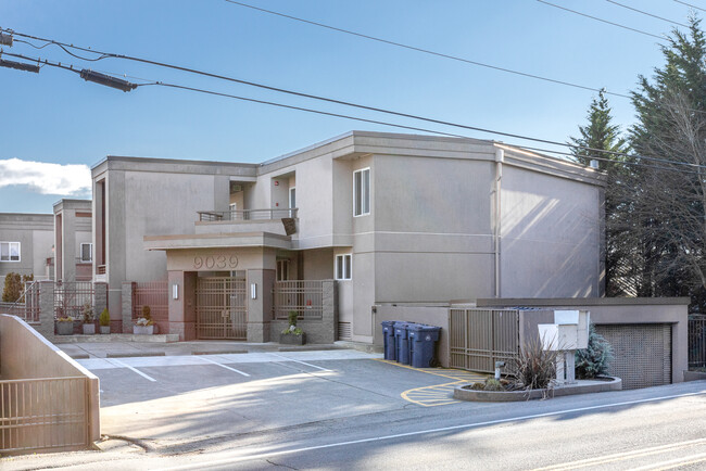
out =
[[(248, 342), (269, 342), (269, 322), (273, 317), (273, 289), (275, 270), (248, 270), (245, 293), (248, 297)], [(256, 285), (256, 298), (251, 296)]]

